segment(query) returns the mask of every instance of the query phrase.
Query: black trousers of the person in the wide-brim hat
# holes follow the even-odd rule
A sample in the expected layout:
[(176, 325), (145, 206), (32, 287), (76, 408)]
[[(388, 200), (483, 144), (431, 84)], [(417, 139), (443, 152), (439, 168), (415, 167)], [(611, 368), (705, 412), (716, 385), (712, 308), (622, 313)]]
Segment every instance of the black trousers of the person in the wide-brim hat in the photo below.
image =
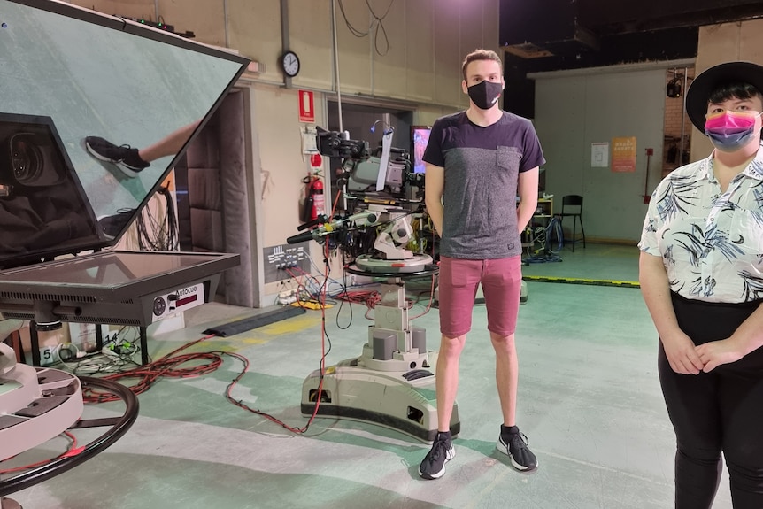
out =
[[(673, 296), (678, 324), (696, 344), (725, 339), (754, 312), (744, 305)], [(659, 343), (659, 382), (675, 429), (675, 508), (709, 509), (726, 459), (735, 509), (763, 508), (763, 348), (711, 373), (677, 374)]]

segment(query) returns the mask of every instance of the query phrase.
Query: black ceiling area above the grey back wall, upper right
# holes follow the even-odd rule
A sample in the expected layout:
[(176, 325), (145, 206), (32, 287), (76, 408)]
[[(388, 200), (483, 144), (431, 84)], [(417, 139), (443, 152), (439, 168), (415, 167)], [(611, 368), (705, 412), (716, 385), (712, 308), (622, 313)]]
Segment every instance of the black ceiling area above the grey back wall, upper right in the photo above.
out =
[(501, 0), (504, 108), (532, 117), (528, 73), (696, 58), (699, 27), (757, 18), (751, 0)]

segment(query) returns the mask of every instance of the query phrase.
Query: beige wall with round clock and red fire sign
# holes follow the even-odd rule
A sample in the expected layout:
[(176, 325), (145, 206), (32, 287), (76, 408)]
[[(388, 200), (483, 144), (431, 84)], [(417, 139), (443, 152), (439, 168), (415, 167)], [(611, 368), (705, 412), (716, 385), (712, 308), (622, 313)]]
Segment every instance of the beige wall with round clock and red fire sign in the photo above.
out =
[[(382, 21), (384, 31), (377, 33), (378, 23), (374, 23), (371, 35), (360, 38), (351, 34), (336, 3), (337, 83), (332, 1), (289, 0), (289, 49), (297, 52), (302, 68), (292, 88), (286, 89), (279, 66), (283, 50), (279, 0), (71, 3), (107, 14), (154, 20), (161, 17), (178, 32), (194, 32), (198, 42), (238, 50), (264, 65), (264, 72), (247, 73), (239, 84), (252, 92), (252, 171), (255, 181), (262, 184), (258, 189), (261, 201), (254, 207), (259, 249), (284, 243), (297, 233), (302, 179), (309, 169), (300, 151), (297, 89), (315, 92), (319, 126), (326, 124), (325, 103), (337, 90), (348, 101), (394, 101), (414, 112), (414, 124), (431, 125), (437, 117), (467, 105), (460, 88), (464, 55), (480, 47), (499, 50), (498, 0), (394, 2)], [(390, 4), (389, 0), (369, 3), (378, 16)], [(344, 0), (343, 6), (351, 25), (367, 31), (372, 18), (366, 0)], [(360, 134), (351, 136), (362, 139)], [(396, 141), (405, 146), (408, 143), (407, 138)], [(320, 248), (313, 244), (313, 259), (320, 263)], [(277, 283), (267, 285), (263, 296), (277, 290)], [(270, 305), (273, 299), (263, 297), (261, 303)]]

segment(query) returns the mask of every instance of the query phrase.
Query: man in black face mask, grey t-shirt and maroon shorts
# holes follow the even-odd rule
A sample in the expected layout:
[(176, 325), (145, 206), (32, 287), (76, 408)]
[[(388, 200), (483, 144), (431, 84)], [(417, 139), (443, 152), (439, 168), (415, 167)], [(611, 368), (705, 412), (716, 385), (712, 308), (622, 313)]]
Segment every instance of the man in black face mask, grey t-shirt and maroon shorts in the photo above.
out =
[[(424, 161), (425, 201), (440, 243), (440, 350), (436, 366), (438, 433), (419, 474), (437, 479), (455, 456), (450, 421), (459, 357), (482, 284), (503, 424), (497, 450), (531, 470), (536, 456), (516, 426), (518, 382), (514, 329), (520, 304), (520, 232), (536, 210), (543, 151), (529, 120), (500, 109), (501, 59), (475, 50), (464, 59), (461, 89), (469, 108), (435, 121)], [(520, 197), (519, 206), (517, 196)]]

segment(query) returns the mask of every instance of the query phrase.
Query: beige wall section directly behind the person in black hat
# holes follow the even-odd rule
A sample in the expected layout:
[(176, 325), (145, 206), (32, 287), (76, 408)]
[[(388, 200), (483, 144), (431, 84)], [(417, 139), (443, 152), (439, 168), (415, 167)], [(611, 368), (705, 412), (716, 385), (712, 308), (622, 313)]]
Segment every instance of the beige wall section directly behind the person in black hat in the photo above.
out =
[[(763, 65), (763, 19), (700, 27), (696, 73), (733, 60)], [(706, 158), (713, 145), (696, 127), (691, 132), (691, 160)]]

